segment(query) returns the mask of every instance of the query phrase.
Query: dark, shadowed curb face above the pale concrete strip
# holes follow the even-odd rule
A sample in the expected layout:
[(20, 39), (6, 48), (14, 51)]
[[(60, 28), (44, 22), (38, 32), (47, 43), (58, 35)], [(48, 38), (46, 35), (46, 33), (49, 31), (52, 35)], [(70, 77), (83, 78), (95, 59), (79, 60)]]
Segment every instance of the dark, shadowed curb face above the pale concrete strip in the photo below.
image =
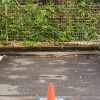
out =
[(0, 47), (1, 51), (93, 51), (99, 46), (64, 46), (64, 47)]

